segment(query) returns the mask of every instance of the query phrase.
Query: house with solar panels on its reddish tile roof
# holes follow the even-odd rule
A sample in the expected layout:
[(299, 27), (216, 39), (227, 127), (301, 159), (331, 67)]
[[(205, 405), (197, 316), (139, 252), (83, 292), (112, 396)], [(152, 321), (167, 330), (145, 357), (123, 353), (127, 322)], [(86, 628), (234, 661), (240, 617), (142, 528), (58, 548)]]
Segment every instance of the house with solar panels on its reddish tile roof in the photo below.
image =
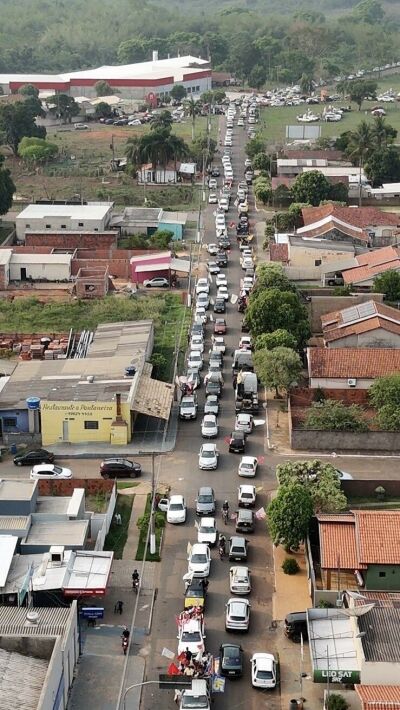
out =
[(329, 348), (400, 348), (400, 311), (378, 301), (326, 313), (321, 323)]

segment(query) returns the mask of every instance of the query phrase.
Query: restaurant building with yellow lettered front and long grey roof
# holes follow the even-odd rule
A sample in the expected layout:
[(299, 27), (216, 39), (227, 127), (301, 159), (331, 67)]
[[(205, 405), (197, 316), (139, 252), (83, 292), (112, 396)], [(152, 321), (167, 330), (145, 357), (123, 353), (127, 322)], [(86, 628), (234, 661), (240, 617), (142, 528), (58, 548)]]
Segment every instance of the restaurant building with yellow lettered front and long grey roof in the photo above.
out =
[(146, 362), (152, 345), (151, 321), (109, 324), (99, 326), (87, 357), (20, 362), (0, 392), (0, 421), (15, 412), (21, 442), (43, 446), (128, 444), (138, 413), (170, 415), (173, 387), (152, 379)]

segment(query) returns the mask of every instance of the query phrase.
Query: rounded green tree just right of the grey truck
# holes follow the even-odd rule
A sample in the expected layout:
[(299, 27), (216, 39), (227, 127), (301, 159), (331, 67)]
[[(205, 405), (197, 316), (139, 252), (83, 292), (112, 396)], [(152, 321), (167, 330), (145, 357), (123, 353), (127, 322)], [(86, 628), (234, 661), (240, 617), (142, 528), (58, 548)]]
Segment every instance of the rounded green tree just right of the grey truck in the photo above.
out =
[(279, 346), (273, 350), (256, 350), (254, 367), (264, 387), (275, 389), (279, 397), (281, 390), (288, 392), (297, 382), (301, 373), (301, 360), (291, 348)]

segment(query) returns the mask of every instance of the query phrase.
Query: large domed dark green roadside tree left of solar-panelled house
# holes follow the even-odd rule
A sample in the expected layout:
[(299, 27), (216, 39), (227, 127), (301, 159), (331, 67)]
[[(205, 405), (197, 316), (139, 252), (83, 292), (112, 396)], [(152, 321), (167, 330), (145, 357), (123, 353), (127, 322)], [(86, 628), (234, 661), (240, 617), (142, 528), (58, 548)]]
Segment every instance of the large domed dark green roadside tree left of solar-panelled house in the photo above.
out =
[(297, 293), (269, 288), (250, 298), (246, 311), (253, 337), (283, 328), (296, 336), (299, 347), (310, 336), (307, 311)]

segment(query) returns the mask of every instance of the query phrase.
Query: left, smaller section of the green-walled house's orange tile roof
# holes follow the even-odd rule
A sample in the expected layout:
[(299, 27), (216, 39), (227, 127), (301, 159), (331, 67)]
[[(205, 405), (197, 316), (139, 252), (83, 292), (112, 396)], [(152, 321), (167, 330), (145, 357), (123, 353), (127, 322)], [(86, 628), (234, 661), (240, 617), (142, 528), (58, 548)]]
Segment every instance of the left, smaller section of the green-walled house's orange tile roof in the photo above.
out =
[[(318, 515), (321, 567), (358, 569), (354, 517)], [(322, 518), (322, 519), (321, 519)], [(340, 520), (340, 522), (336, 522)]]

